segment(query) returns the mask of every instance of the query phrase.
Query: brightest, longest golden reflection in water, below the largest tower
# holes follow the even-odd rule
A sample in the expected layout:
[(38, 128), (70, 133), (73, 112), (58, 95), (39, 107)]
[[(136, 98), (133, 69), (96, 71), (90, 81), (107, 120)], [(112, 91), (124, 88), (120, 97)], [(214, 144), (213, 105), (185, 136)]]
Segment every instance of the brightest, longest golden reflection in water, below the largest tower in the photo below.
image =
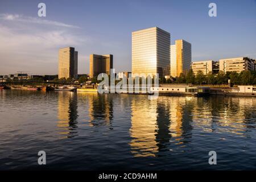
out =
[[(139, 96), (140, 97), (140, 96)], [(134, 156), (155, 156), (156, 145), (156, 101), (145, 100), (143, 96), (131, 101), (131, 153)]]

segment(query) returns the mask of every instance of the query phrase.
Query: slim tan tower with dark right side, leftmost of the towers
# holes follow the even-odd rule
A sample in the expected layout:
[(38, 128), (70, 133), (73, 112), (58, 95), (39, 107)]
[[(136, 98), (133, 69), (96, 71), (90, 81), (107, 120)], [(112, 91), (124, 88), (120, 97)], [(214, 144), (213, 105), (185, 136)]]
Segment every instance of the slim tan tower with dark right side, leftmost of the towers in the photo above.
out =
[(59, 78), (77, 78), (77, 58), (75, 48), (59, 49)]

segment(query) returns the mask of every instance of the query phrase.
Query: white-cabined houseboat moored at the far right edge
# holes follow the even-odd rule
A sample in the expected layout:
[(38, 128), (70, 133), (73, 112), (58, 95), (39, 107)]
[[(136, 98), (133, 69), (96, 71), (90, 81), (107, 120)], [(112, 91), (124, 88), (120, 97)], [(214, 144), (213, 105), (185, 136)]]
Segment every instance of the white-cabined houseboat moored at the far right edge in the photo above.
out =
[(224, 91), (224, 96), (253, 96), (256, 97), (256, 86), (238, 85)]

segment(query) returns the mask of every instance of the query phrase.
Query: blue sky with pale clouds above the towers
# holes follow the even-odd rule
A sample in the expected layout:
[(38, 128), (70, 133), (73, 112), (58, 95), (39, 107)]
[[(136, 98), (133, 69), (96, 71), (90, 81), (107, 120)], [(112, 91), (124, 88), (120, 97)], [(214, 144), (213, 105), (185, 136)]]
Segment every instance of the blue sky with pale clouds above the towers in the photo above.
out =
[[(38, 16), (40, 2), (46, 17)], [(190, 42), (192, 61), (256, 59), (256, 0), (0, 0), (0, 75), (55, 75), (67, 46), (79, 52), (79, 74), (89, 73), (92, 53), (113, 54), (116, 72), (131, 71), (131, 32), (149, 27), (170, 32), (171, 44)]]

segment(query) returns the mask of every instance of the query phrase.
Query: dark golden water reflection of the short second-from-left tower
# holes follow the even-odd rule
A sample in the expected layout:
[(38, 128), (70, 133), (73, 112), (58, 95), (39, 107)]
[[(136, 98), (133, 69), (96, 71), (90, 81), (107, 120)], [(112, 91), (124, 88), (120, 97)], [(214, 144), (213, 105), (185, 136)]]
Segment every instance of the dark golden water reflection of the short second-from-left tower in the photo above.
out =
[(93, 94), (89, 100), (89, 115), (93, 126), (111, 125), (113, 98), (109, 94)]

